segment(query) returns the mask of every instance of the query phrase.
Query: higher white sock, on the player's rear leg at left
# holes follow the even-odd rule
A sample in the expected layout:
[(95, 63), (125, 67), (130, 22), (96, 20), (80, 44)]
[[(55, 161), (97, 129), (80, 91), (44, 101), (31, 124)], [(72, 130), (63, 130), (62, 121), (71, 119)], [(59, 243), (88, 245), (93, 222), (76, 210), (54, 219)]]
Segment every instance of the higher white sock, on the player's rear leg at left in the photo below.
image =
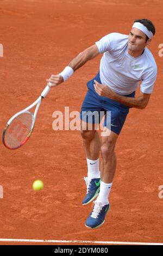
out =
[(97, 179), (100, 178), (99, 172), (99, 158), (97, 160), (87, 159), (87, 178)]

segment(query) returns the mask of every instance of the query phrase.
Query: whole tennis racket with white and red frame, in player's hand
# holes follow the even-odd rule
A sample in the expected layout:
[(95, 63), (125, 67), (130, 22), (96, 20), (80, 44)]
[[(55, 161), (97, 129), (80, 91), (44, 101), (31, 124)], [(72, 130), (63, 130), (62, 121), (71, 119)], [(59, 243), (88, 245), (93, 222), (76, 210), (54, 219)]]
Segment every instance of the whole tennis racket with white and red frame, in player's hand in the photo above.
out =
[[(2, 135), (2, 142), (6, 148), (17, 149), (28, 141), (34, 129), (36, 115), (39, 110), (41, 101), (46, 97), (49, 90), (51, 89), (48, 85), (50, 86), (51, 83), (47, 84), (36, 101), (34, 101), (29, 107), (24, 108), (20, 112), (17, 112), (9, 119)], [(29, 110), (34, 106), (36, 107), (33, 114)]]

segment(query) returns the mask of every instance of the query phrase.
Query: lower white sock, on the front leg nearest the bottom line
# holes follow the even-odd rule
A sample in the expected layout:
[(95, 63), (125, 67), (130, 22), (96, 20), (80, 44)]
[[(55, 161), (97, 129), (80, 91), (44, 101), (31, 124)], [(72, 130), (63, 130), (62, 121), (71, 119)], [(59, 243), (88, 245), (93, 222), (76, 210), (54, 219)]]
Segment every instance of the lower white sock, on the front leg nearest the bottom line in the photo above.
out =
[(102, 205), (109, 204), (109, 193), (111, 190), (111, 186), (112, 183), (106, 184), (101, 180), (99, 195), (96, 199), (98, 203), (101, 203)]

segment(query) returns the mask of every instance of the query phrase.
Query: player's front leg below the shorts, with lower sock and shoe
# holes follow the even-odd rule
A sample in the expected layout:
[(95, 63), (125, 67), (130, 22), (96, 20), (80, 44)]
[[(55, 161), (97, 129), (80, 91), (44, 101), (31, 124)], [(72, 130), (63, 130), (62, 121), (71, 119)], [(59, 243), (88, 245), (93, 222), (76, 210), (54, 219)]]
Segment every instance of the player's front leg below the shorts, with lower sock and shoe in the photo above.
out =
[[(105, 127), (105, 129), (107, 129)], [(112, 180), (116, 170), (115, 145), (118, 135), (110, 132), (107, 137), (101, 137), (101, 184), (98, 197), (95, 201), (93, 211), (86, 220), (87, 228), (98, 228), (104, 223), (106, 213), (110, 208), (109, 193), (112, 186)]]

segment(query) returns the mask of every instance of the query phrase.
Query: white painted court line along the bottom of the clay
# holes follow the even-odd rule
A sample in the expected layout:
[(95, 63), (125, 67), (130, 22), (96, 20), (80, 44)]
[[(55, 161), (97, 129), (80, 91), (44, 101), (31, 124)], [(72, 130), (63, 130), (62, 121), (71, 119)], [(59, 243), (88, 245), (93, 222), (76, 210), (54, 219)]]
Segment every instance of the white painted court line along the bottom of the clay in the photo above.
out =
[(0, 239), (0, 242), (34, 242), (34, 243), (101, 243), (102, 245), (163, 245), (149, 242), (114, 242), (114, 241), (78, 241), (78, 240), (34, 240), (34, 239)]

